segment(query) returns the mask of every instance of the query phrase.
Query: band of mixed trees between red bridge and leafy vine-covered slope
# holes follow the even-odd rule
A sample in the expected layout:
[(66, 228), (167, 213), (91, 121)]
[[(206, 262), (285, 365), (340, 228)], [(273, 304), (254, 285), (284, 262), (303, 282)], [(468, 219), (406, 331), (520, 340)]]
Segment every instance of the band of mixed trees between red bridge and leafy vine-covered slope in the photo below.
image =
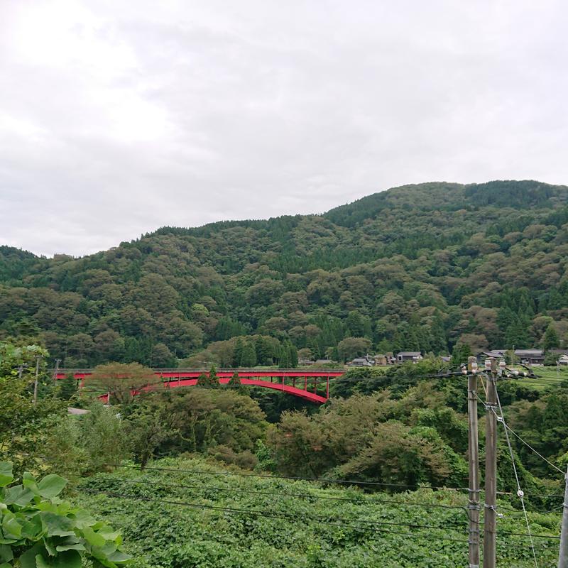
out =
[[(155, 383), (151, 369), (138, 364), (99, 366), (84, 391), (77, 391), (72, 376), (55, 384), (45, 360), (34, 405), (33, 363), (37, 354), (44, 359), (47, 354), (38, 346), (18, 349), (6, 344), (0, 354), (0, 447), (18, 471), (90, 475), (122, 459), (145, 466), (151, 459), (197, 452), (225, 464), (291, 476), (466, 485), (464, 382), (459, 377), (425, 379), (444, 367), (439, 359), (354, 369), (333, 383), (331, 399), (321, 408), (278, 410), (278, 400), (286, 395), (265, 389), (259, 396), (263, 389), (242, 386), (238, 376), (221, 385), (214, 368), (196, 387), (164, 389), (154, 384), (155, 391), (133, 396)], [(25, 371), (18, 378), (21, 365)], [(542, 456), (564, 466), (566, 384), (540, 394), (517, 381), (501, 381), (499, 392), (510, 427)], [(98, 393), (110, 393), (111, 408), (96, 400)], [(84, 406), (88, 413), (69, 417), (68, 405)], [(555, 493), (551, 488), (560, 485), (555, 471), (518, 439), (513, 444), (523, 488), (528, 493)], [(500, 486), (512, 487), (505, 445), (498, 460)]]

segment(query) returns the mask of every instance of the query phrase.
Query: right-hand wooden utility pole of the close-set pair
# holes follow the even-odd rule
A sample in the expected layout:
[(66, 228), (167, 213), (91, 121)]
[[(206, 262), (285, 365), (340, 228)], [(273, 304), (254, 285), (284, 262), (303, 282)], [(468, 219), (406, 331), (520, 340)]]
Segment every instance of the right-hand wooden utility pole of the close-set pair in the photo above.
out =
[[(497, 535), (497, 359), (488, 361), (486, 433), (485, 433), (485, 516), (484, 516), (484, 568), (496, 566)], [(486, 361), (486, 367), (487, 367)]]

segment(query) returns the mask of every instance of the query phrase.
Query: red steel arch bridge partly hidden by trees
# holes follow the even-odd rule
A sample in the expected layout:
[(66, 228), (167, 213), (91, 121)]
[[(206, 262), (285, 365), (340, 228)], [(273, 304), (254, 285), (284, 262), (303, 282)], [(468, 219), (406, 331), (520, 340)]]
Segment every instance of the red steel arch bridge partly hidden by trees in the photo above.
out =
[[(65, 378), (70, 373), (78, 381), (81, 387), (84, 386), (85, 379), (89, 379), (92, 374), (91, 369), (60, 369), (55, 378)], [(195, 386), (197, 377), (202, 374), (209, 374), (206, 369), (199, 368), (156, 368), (154, 369), (156, 382), (142, 387), (140, 391), (153, 391), (163, 388), (178, 388), (184, 386)], [(242, 385), (261, 386), (273, 388), (275, 391), (283, 391), (313, 403), (325, 403), (329, 398), (329, 381), (344, 375), (343, 369), (334, 368), (314, 368), (309, 371), (306, 369), (255, 369), (255, 368), (224, 368), (217, 371), (219, 383), (226, 384), (234, 376), (239, 375)], [(102, 400), (108, 402), (109, 395), (102, 395)]]

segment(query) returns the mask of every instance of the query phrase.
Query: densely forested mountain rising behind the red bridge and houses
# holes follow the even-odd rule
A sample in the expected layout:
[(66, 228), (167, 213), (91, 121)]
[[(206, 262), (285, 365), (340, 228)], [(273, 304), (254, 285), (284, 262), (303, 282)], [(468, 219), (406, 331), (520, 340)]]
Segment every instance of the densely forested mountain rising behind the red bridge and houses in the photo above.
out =
[(65, 366), (565, 346), (567, 258), (568, 187), (407, 185), (84, 258), (0, 247), (0, 339), (41, 342)]

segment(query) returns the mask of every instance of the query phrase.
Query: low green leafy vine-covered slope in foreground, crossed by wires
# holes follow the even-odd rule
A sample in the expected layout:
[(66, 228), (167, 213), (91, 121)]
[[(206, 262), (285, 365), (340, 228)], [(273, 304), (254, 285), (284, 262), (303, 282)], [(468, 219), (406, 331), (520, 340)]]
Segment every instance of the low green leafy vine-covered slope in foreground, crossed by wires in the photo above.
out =
[[(169, 459), (155, 464), (180, 469), (223, 471), (203, 459)], [(126, 483), (125, 481), (137, 481)], [(143, 484), (153, 481), (157, 484)], [(168, 487), (168, 484), (189, 488)], [(466, 494), (421, 489), (415, 493), (364, 495), (356, 488), (322, 488), (307, 481), (261, 479), (239, 476), (211, 476), (179, 472), (119, 469), (87, 479), (82, 488), (113, 491), (139, 499), (81, 493), (82, 506), (104, 516), (124, 533), (127, 550), (136, 556), (138, 568), (249, 568), (249, 567), (456, 567), (466, 565), (466, 513), (461, 509), (423, 508), (412, 503), (466, 504)], [(219, 491), (224, 488), (231, 491)], [(279, 496), (241, 491), (278, 493)], [(311, 497), (285, 496), (285, 493)], [(354, 498), (357, 503), (318, 499), (317, 496)], [(370, 503), (371, 500), (375, 503)], [(390, 499), (405, 503), (378, 503)], [(157, 501), (154, 501), (157, 500)], [(164, 500), (200, 503), (208, 506), (268, 511), (288, 519), (266, 515), (243, 515), (222, 510), (198, 509), (163, 503)], [(162, 502), (160, 502), (162, 501)], [(499, 529), (526, 532), (518, 512), (506, 511)], [(309, 520), (321, 518), (322, 522)], [(341, 521), (337, 519), (342, 519)], [(532, 531), (559, 534), (560, 516), (532, 513)], [(376, 524), (373, 524), (376, 523)], [(433, 525), (418, 529), (378, 523)], [(334, 523), (357, 525), (337, 527)], [(383, 528), (411, 532), (374, 532)], [(555, 566), (558, 542), (537, 539), (540, 567)], [(532, 567), (525, 537), (501, 536), (498, 556), (502, 566)]]

